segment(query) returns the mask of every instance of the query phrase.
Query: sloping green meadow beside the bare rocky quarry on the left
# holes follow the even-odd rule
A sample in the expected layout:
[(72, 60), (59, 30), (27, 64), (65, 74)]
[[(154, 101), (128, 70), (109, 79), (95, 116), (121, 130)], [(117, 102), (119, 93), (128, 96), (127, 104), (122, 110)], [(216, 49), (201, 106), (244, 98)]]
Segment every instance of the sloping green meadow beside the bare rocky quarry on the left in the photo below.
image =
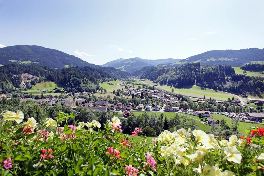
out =
[(43, 81), (41, 83), (37, 83), (36, 85), (34, 85), (31, 89), (29, 89), (28, 91), (23, 91), (23, 92), (28, 92), (30, 94), (41, 94), (42, 91), (37, 91), (37, 89), (48, 89), (48, 91), (43, 92), (43, 94), (52, 94), (52, 95), (59, 95), (60, 93), (54, 93), (54, 88), (55, 87), (61, 87), (60, 84), (56, 84), (52, 81), (46, 80)]

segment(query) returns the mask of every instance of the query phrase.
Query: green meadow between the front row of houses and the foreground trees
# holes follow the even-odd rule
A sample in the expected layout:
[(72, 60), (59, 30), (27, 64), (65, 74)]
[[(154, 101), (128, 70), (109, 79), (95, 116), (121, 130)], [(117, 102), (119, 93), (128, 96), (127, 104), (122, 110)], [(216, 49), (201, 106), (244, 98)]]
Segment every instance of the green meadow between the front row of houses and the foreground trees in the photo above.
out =
[[(135, 113), (135, 115), (141, 115), (144, 111), (133, 111), (133, 113)], [(176, 115), (175, 112), (147, 112), (149, 115), (151, 114), (156, 114), (157, 116), (161, 115), (161, 113), (164, 114), (164, 117), (166, 116), (168, 119), (174, 117)], [(199, 120), (199, 117), (196, 117), (196, 116), (192, 116), (192, 115), (189, 115), (189, 114), (185, 114), (185, 113), (180, 113), (182, 115), (186, 115), (190, 118), (193, 118), (197, 123), (198, 123), (198, 127), (197, 129), (199, 130), (203, 130), (203, 131), (209, 131), (210, 130), (210, 126), (209, 125), (206, 125), (206, 124), (203, 124), (200, 120)]]

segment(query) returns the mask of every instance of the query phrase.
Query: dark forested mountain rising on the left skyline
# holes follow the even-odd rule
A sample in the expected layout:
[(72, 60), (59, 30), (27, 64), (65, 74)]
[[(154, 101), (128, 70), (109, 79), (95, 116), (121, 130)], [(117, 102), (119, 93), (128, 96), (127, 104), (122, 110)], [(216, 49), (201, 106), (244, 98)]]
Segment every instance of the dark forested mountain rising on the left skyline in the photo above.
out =
[(15, 45), (0, 48), (0, 64), (7, 65), (11, 63), (32, 63), (50, 68), (64, 68), (65, 66), (100, 68), (99, 65), (90, 64), (62, 51), (36, 45)]

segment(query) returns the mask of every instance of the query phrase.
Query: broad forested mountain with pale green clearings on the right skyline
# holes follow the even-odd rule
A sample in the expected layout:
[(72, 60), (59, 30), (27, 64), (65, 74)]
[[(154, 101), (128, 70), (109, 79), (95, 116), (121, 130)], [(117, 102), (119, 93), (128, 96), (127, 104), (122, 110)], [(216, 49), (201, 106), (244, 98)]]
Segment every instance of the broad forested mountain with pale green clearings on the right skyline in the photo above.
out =
[(212, 66), (219, 64), (241, 66), (251, 61), (264, 61), (264, 49), (249, 48), (241, 50), (211, 50), (163, 66), (171, 67), (186, 63), (197, 62), (200, 62), (202, 66)]

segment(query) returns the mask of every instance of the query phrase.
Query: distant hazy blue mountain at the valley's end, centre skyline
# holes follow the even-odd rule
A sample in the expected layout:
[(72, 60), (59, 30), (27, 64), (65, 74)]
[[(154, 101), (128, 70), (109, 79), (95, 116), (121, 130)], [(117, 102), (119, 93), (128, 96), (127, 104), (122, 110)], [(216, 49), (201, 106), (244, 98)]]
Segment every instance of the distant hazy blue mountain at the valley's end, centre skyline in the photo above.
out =
[(180, 61), (180, 59), (142, 59), (139, 57), (130, 58), (130, 59), (117, 59), (110, 62), (107, 62), (106, 64), (103, 64), (101, 66), (111, 66), (116, 69), (120, 69), (123, 71), (126, 71), (128, 73), (133, 73), (136, 70), (140, 70), (145, 66), (157, 66), (160, 64), (168, 64)]

